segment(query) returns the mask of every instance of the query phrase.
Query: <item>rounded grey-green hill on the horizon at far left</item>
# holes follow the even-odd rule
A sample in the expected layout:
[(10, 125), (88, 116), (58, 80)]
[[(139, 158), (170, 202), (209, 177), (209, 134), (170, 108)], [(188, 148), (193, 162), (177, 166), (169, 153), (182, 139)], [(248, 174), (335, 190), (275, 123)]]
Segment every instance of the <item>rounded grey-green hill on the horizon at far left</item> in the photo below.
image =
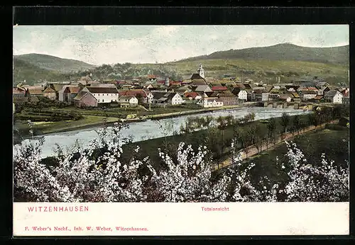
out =
[(75, 59), (62, 59), (51, 55), (27, 54), (15, 55), (14, 59), (33, 64), (40, 69), (57, 71), (61, 73), (84, 71), (94, 67), (92, 64), (87, 64)]

